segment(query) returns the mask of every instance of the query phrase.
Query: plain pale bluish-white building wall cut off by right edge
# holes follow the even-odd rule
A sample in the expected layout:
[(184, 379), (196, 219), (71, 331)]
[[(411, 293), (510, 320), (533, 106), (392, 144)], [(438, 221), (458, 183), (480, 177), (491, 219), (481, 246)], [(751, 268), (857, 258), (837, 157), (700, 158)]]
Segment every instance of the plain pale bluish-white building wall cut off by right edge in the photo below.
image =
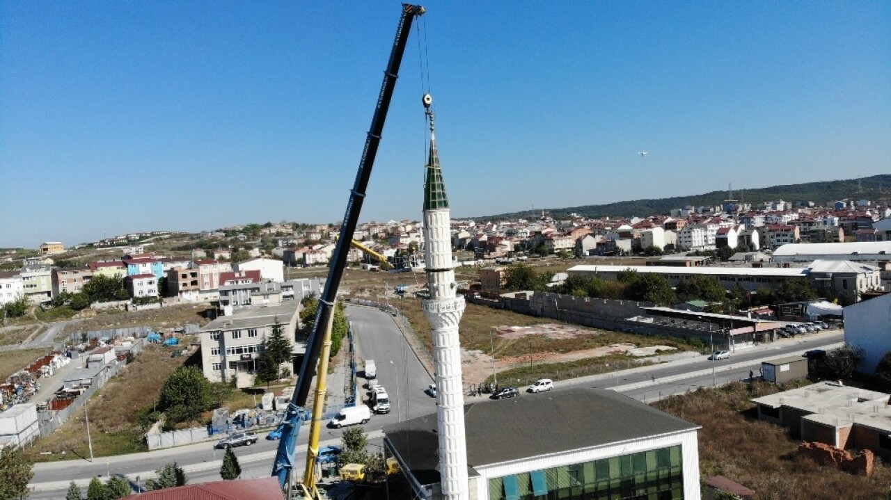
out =
[[(872, 374), (891, 352), (891, 294), (884, 294), (845, 308), (845, 343), (860, 347), (863, 359), (857, 371)], [(891, 400), (891, 399), (889, 399)]]

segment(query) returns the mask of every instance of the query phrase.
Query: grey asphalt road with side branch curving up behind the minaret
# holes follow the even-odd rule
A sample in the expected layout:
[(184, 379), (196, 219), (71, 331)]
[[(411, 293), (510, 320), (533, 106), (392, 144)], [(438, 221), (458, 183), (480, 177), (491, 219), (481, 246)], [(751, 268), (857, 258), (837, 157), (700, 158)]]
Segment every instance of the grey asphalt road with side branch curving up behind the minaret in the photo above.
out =
[[(364, 426), (370, 439), (380, 438), (380, 429), (389, 423), (435, 411), (435, 400), (424, 392), (431, 381), (430, 375), (408, 347), (393, 319), (380, 310), (360, 307), (347, 308), (347, 317), (356, 332), (358, 354), (364, 359), (375, 360), (378, 380), (387, 389), (391, 399), (391, 412), (387, 415), (374, 415), (372, 421)], [(795, 339), (782, 339), (777, 343), (738, 350), (732, 353), (730, 359), (716, 361), (714, 365), (706, 356), (682, 359), (609, 375), (555, 381), (554, 390), (578, 386), (600, 387), (623, 392), (635, 399), (652, 401), (698, 387), (711, 387), (713, 367), (715, 383), (727, 383), (748, 378), (749, 370), (757, 375), (764, 359), (797, 355), (810, 349), (834, 348), (843, 340), (844, 335), (840, 330), (799, 335)], [(359, 369), (361, 370), (361, 365)], [(519, 397), (541, 396), (521, 392)], [(483, 401), (490, 400), (485, 397), (465, 397), (465, 402)], [(498, 401), (491, 401), (491, 404), (498, 404)], [(298, 436), (298, 471), (303, 467), (307, 435), (307, 427), (304, 426)], [(321, 440), (323, 446), (338, 444), (340, 431), (323, 427)], [(269, 474), (277, 446), (278, 441), (264, 440), (261, 435), (257, 445), (235, 448), (240, 457), (242, 477), (263, 477)], [(221, 460), (221, 451), (214, 450), (211, 443), (200, 443), (110, 459), (97, 458), (92, 463), (81, 459), (37, 464), (31, 483), (36, 490), (30, 497), (57, 498), (60, 490), (68, 488), (70, 480), (86, 486), (90, 478), (96, 475), (105, 477), (109, 473), (126, 475), (135, 485), (137, 476), (142, 482), (145, 478), (153, 477), (153, 471), (172, 461), (184, 466), (191, 483), (218, 480)]]

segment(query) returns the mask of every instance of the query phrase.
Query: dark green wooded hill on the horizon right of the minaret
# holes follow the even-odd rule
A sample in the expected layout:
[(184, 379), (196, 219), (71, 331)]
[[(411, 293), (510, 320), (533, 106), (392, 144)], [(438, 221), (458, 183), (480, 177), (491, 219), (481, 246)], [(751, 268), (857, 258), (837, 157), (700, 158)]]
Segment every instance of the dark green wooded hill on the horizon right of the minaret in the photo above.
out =
[[(858, 187), (859, 183), (859, 187)], [(861, 192), (862, 190), (862, 192)], [(805, 182), (804, 184), (789, 184), (785, 186), (771, 186), (754, 190), (734, 190), (735, 198), (742, 198), (753, 208), (760, 206), (762, 202), (782, 199), (793, 203), (813, 201), (818, 206), (827, 205), (839, 199), (871, 199), (873, 201), (891, 198), (891, 175), (873, 175), (845, 181)], [(669, 214), (673, 208), (683, 206), (708, 206), (718, 205), (727, 199), (727, 191), (712, 191), (701, 195), (691, 195), (674, 198), (638, 199), (634, 201), (619, 201), (606, 205), (569, 206), (567, 208), (545, 208), (544, 211), (555, 219), (568, 217), (569, 214), (579, 214), (584, 217), (646, 217), (654, 214)], [(538, 218), (541, 210), (525, 210), (511, 214), (498, 214), (486, 217), (472, 217), (474, 219), (517, 219)]]

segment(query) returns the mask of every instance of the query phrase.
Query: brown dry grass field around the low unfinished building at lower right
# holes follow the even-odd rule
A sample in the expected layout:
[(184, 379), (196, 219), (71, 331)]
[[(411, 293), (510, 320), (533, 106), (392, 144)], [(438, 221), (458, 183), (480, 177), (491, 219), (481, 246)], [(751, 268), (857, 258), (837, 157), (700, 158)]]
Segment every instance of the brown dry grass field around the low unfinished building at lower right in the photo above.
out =
[(798, 441), (790, 440), (781, 426), (748, 417), (755, 408), (750, 398), (792, 387), (731, 383), (721, 389), (671, 396), (652, 406), (702, 426), (699, 471), (703, 478), (721, 474), (756, 490), (761, 500), (884, 498), (891, 484), (887, 464), (877, 461), (869, 478), (814, 464), (797, 456)]

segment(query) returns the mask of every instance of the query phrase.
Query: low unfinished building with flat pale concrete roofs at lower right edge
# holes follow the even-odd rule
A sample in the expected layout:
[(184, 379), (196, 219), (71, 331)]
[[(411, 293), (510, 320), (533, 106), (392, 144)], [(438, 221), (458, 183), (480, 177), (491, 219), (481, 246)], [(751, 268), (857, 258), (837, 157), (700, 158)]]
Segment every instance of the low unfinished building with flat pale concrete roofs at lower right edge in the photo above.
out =
[(788, 428), (797, 440), (840, 449), (869, 449), (891, 460), (889, 399), (891, 394), (884, 392), (820, 382), (752, 402), (758, 406), (758, 418)]

